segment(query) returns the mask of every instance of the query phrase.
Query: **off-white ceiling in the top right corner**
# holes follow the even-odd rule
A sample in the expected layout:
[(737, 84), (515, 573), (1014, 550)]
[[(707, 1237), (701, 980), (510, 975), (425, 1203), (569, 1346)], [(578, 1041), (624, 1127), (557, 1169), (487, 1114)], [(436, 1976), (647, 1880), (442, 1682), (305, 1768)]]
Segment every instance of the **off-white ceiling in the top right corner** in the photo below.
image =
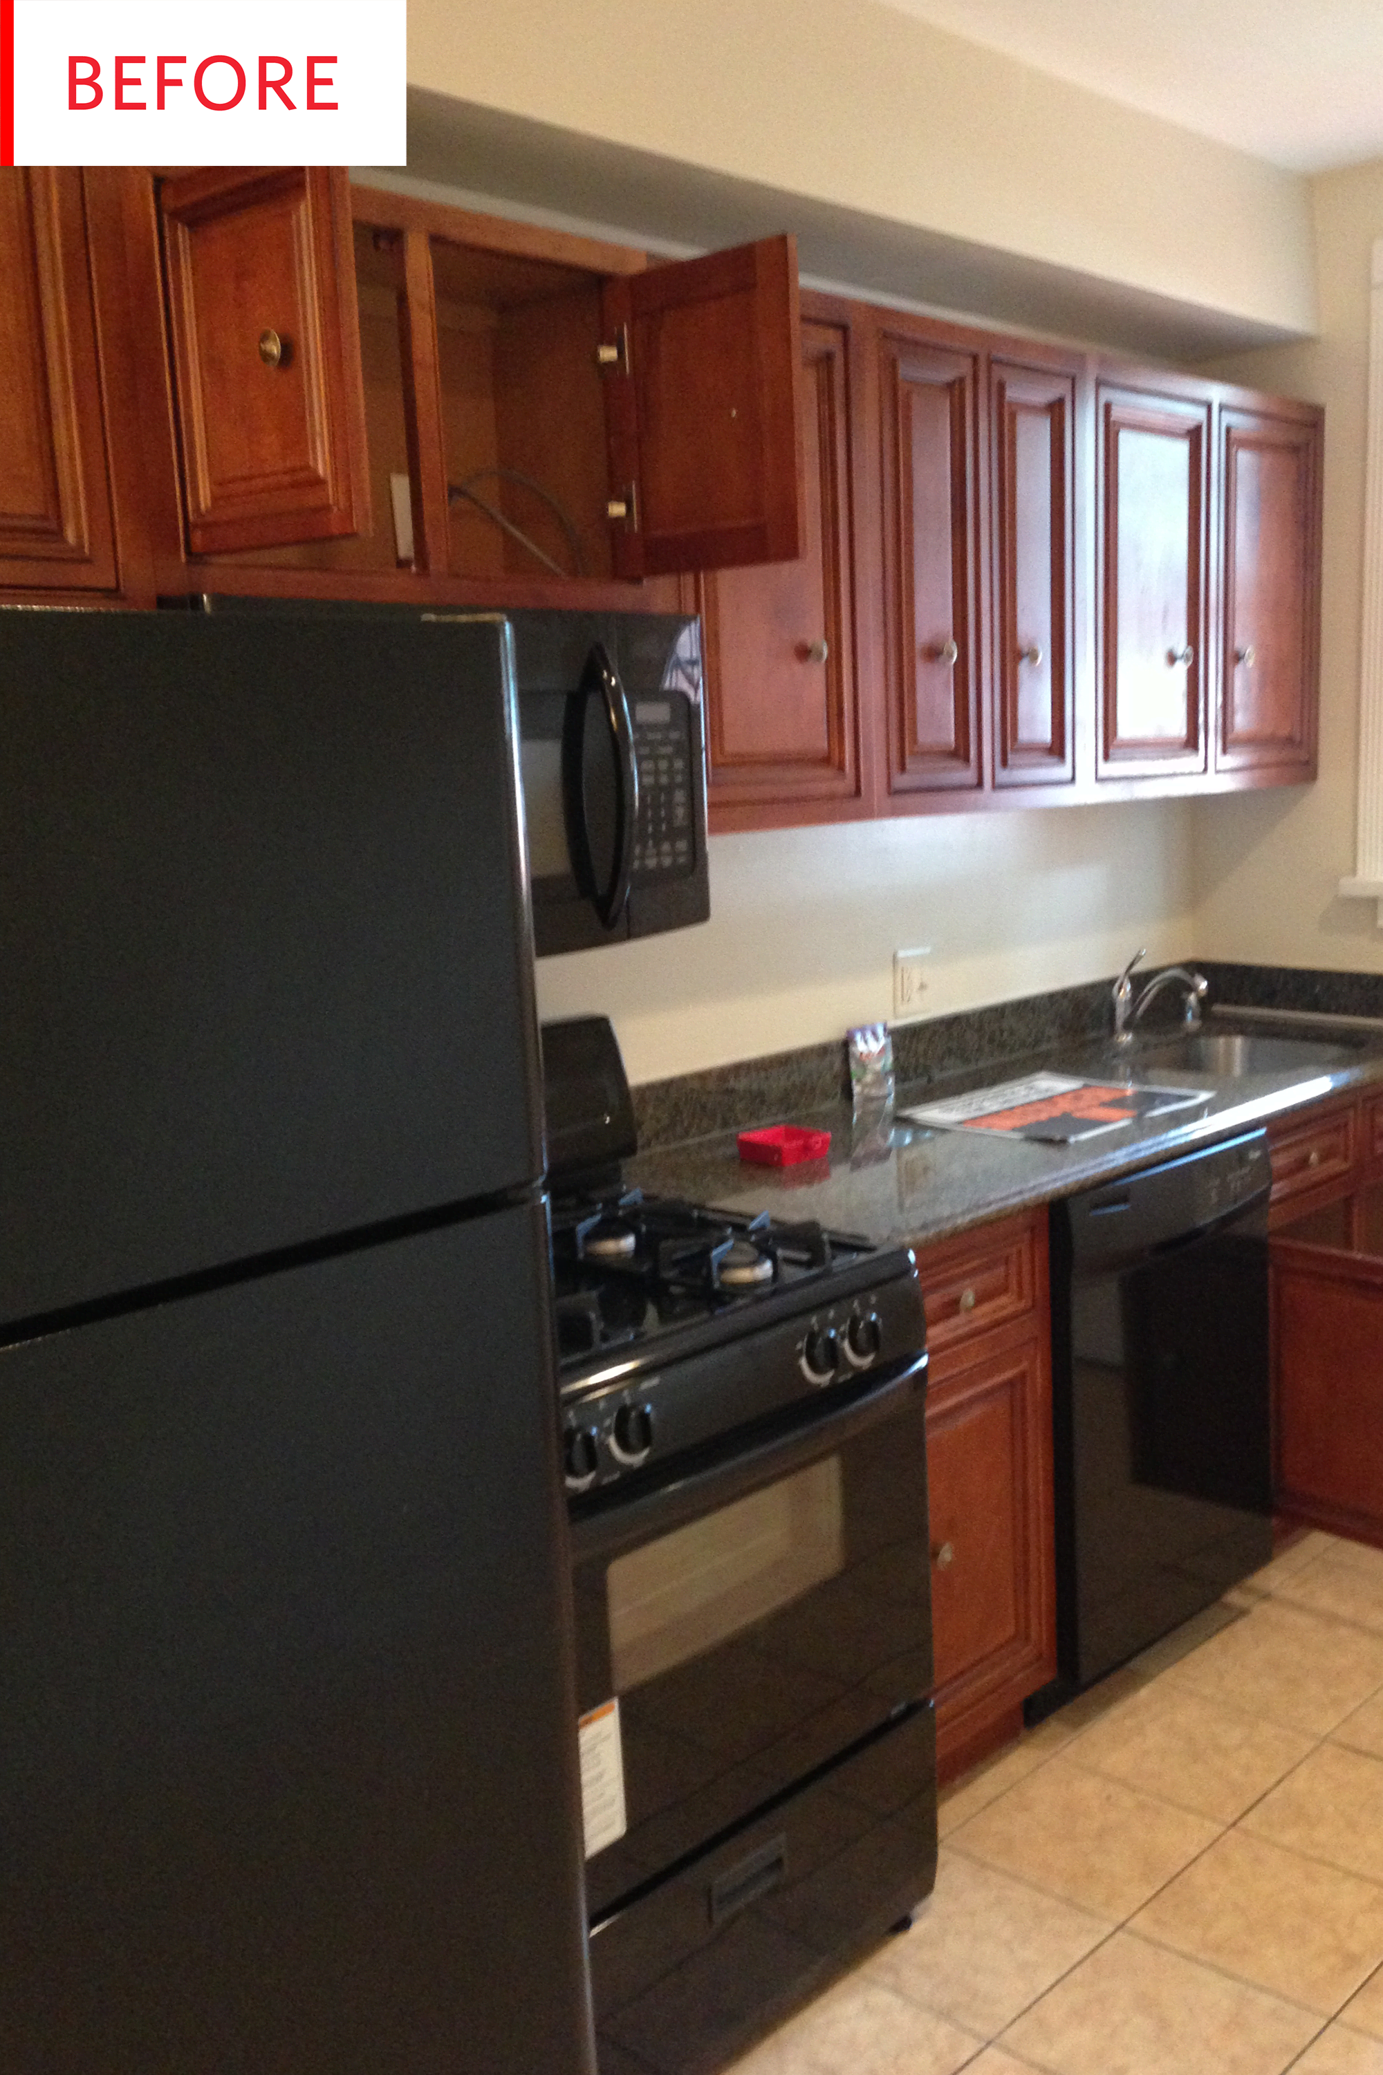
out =
[(1383, 158), (1381, 0), (885, 0), (1294, 172)]

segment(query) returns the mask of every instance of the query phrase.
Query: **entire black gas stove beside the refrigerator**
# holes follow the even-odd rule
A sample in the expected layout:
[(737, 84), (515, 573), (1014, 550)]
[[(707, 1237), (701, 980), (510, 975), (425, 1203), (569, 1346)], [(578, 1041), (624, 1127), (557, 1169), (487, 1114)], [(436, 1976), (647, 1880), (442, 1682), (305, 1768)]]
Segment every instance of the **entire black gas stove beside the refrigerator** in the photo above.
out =
[(600, 2075), (704, 2075), (932, 1884), (922, 1299), (625, 1187), (615, 1033), (542, 1038)]

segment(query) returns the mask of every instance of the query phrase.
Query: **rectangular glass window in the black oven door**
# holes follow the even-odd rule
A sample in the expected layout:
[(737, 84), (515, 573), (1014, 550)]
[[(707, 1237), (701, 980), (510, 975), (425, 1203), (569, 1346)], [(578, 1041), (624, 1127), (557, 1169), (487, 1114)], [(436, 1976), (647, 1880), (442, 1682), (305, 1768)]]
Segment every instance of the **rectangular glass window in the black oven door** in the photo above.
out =
[(839, 1455), (617, 1556), (606, 1573), (615, 1691), (687, 1664), (843, 1569)]

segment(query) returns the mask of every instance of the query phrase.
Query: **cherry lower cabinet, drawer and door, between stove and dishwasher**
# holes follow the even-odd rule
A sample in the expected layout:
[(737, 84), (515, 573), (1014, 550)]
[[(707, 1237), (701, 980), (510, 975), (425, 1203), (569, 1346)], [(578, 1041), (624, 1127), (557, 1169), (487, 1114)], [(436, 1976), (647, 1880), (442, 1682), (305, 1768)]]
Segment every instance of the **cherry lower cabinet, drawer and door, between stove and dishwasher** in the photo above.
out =
[(1047, 1212), (918, 1253), (928, 1316), (937, 1753), (1018, 1735), (1057, 1670)]

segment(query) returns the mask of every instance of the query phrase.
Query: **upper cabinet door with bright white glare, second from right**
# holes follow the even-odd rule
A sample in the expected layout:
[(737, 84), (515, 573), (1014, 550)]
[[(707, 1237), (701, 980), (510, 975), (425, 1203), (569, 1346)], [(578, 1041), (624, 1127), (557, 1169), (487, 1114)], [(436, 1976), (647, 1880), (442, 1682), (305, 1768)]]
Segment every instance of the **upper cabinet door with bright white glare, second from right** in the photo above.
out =
[(1099, 388), (1099, 778), (1206, 768), (1209, 415)]

